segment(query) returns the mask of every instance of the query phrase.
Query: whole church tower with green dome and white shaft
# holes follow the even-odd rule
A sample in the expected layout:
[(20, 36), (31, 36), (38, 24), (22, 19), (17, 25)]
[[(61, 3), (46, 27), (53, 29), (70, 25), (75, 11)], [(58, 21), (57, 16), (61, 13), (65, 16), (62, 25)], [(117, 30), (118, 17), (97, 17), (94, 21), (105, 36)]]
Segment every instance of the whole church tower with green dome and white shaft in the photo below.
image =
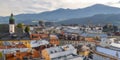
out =
[(10, 34), (15, 33), (15, 20), (14, 20), (13, 14), (11, 14), (9, 18), (9, 33)]

